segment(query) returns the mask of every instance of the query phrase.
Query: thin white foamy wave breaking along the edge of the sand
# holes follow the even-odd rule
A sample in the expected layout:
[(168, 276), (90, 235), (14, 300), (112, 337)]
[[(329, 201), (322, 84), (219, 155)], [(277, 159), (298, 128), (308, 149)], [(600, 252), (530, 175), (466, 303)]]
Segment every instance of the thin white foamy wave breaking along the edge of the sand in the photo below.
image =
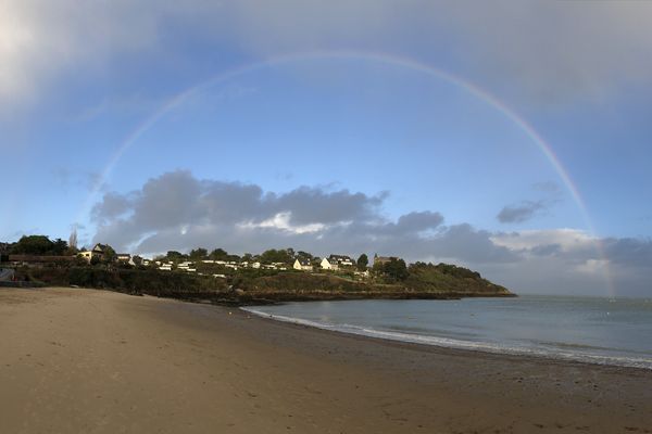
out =
[[(328, 322), (316, 322), (301, 318), (287, 317), (283, 315), (273, 315), (267, 314), (261, 310), (256, 310), (250, 307), (241, 307), (241, 310), (244, 310), (249, 314), (255, 315), (262, 318), (268, 318), (276, 321), (289, 322), (299, 326), (313, 327), (316, 329), (330, 330), (341, 333), (356, 334), (361, 336), (367, 337), (376, 337), (384, 339), (388, 341), (398, 341), (398, 342), (406, 342), (413, 344), (421, 345), (430, 345), (438, 346), (442, 348), (455, 348), (455, 349), (466, 349), (473, 352), (482, 352), (482, 353), (491, 353), (491, 354), (507, 354), (507, 355), (517, 355), (517, 356), (530, 356), (530, 357), (541, 357), (549, 359), (557, 359), (557, 360), (568, 360), (568, 361), (579, 361), (585, 363), (592, 365), (607, 365), (607, 366), (617, 366), (617, 367), (627, 367), (627, 368), (642, 368), (652, 370), (652, 359), (649, 358), (640, 358), (640, 357), (627, 357), (627, 356), (606, 356), (606, 355), (595, 355), (579, 352), (579, 349), (587, 348), (584, 345), (556, 345), (555, 349), (542, 348), (542, 347), (525, 347), (525, 346), (510, 346), (510, 345), (501, 345), (489, 342), (472, 342), (472, 341), (462, 341), (450, 337), (440, 337), (440, 336), (431, 336), (431, 335), (423, 335), (416, 333), (403, 333), (396, 331), (387, 331), (387, 330), (377, 330), (371, 329), (361, 326), (353, 326), (347, 323), (328, 323)], [(550, 344), (550, 343), (548, 343)], [(575, 349), (575, 350), (570, 350)]]

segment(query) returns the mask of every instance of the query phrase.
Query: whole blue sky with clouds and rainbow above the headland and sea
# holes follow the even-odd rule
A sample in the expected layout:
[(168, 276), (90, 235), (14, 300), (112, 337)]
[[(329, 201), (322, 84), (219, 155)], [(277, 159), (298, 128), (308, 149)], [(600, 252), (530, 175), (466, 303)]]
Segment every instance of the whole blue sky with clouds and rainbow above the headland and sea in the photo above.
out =
[(652, 296), (652, 3), (0, 0), (0, 240)]

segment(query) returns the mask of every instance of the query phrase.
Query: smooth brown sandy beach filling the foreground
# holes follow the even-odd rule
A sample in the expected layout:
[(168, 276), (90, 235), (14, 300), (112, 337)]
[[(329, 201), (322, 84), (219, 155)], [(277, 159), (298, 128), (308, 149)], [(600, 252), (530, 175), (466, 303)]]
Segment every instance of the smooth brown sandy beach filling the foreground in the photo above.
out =
[(0, 433), (652, 433), (652, 371), (0, 289)]

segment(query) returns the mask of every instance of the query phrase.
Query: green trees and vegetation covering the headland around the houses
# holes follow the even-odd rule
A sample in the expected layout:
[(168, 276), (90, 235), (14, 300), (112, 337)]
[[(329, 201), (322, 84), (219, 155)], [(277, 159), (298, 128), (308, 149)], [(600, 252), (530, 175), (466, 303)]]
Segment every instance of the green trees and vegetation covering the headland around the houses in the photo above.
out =
[[(73, 252), (65, 241), (50, 241), (45, 235), (23, 237), (18, 242), (4, 246), (11, 253), (37, 256)], [(360, 255), (352, 266), (347, 265), (350, 264), (348, 257), (339, 256), (343, 259), (336, 270), (314, 272), (291, 269), (296, 259), (313, 265), (319, 263), (318, 257), (308, 252), (294, 252), (292, 248), (271, 248), (260, 255), (247, 253), (240, 257), (223, 248), (209, 253), (206, 248), (197, 247), (189, 254), (168, 251), (164, 256), (158, 257), (161, 261), (174, 265), (168, 266), (167, 270), (161, 270), (154, 261), (143, 266), (138, 257), (134, 257), (135, 266), (117, 261), (111, 246), (101, 245), (101, 248), (104, 252), (102, 258), (96, 257), (90, 264), (84, 259), (67, 263), (37, 261), (29, 266), (17, 266), (16, 277), (23, 281), (47, 285), (78, 285), (129, 294), (236, 304), (292, 299), (513, 295), (505, 288), (463, 267), (425, 263), (408, 266), (398, 257), (376, 256), (374, 267), (369, 269), (366, 254)], [(256, 268), (253, 268), (254, 263), (259, 263)]]

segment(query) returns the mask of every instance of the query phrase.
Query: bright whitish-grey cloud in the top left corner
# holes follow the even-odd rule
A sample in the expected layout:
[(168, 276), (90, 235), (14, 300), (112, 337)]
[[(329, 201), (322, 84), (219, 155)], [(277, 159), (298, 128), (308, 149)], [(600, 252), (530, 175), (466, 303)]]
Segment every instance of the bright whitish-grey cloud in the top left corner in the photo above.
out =
[(155, 10), (125, 1), (2, 1), (0, 102), (17, 105), (66, 69), (151, 47), (156, 21)]

